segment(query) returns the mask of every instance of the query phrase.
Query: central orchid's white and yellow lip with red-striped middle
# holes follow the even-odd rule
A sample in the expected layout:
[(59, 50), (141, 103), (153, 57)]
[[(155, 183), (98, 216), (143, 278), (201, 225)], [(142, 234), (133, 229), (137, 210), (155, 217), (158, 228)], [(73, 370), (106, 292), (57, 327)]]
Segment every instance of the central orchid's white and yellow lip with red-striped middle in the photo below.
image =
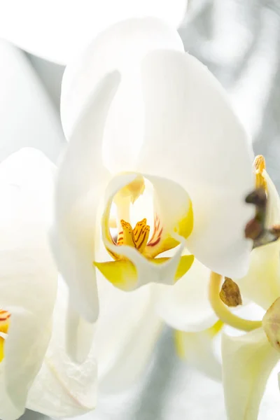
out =
[[(182, 255), (193, 230), (193, 207), (183, 187), (170, 179), (125, 172), (111, 179), (106, 197), (102, 239), (113, 260), (94, 261), (106, 279), (134, 290), (151, 282), (172, 284), (186, 274), (194, 260)], [(132, 219), (137, 223), (132, 225)], [(172, 256), (160, 257), (173, 249)]]

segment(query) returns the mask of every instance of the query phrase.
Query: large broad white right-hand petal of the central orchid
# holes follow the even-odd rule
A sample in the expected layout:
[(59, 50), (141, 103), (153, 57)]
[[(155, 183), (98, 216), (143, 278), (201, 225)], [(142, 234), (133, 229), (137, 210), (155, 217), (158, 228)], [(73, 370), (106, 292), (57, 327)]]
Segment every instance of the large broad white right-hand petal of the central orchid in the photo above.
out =
[(193, 202), (190, 252), (214, 272), (240, 276), (251, 241), (251, 145), (223, 88), (195, 57), (151, 52), (143, 61), (146, 137), (137, 170), (180, 183)]

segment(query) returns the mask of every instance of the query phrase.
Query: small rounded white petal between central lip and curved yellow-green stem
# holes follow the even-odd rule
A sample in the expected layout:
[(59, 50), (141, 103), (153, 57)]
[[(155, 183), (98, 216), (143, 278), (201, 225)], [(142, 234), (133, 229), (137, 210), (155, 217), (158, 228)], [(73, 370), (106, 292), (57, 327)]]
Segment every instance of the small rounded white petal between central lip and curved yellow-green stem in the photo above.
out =
[(176, 330), (195, 332), (214, 325), (217, 316), (208, 297), (210, 270), (198, 260), (173, 286), (157, 286), (156, 309)]

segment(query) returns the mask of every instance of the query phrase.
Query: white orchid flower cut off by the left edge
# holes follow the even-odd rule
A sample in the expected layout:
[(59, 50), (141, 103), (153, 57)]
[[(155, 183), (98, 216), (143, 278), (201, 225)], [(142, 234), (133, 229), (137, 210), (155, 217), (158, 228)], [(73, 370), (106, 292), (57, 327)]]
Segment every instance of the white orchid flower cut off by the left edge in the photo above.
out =
[(66, 314), (60, 290), (57, 297), (57, 269), (48, 244), (54, 169), (33, 149), (0, 165), (3, 420), (18, 419), (25, 407), (55, 417), (95, 407), (94, 356), (77, 365), (64, 350)]

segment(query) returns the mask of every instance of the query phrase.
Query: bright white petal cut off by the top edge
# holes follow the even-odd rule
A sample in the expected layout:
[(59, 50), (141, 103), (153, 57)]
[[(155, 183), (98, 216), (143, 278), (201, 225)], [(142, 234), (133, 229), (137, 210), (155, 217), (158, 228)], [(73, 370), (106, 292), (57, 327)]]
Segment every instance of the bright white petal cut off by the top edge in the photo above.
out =
[(35, 55), (66, 64), (83, 45), (115, 22), (153, 16), (178, 27), (186, 7), (187, 0), (3, 1), (0, 37)]

